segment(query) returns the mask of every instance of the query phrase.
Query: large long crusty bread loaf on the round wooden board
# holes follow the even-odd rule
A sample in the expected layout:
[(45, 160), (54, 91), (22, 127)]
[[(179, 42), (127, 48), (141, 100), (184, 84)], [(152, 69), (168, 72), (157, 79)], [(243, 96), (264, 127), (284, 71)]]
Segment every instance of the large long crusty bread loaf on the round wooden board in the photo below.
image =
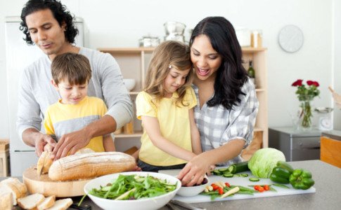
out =
[(53, 181), (90, 179), (117, 172), (132, 171), (136, 167), (131, 155), (119, 152), (70, 155), (53, 162), (49, 178)]

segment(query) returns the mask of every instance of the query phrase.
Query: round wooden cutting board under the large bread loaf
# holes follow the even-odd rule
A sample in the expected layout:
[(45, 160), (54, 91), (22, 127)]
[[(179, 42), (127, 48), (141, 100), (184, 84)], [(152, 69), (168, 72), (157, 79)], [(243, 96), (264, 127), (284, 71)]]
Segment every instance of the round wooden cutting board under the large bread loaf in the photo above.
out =
[(74, 197), (84, 195), (84, 186), (91, 179), (75, 181), (52, 181), (49, 174), (38, 176), (37, 169), (30, 167), (22, 174), (22, 180), (29, 193), (41, 193), (45, 197)]

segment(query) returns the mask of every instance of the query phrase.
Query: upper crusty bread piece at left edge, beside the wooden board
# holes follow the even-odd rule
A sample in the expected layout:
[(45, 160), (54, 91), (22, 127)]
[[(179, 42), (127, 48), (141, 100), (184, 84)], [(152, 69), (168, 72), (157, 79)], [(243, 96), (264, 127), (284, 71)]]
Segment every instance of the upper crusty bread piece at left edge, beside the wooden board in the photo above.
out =
[(27, 188), (24, 183), (21, 183), (19, 179), (8, 178), (0, 182), (0, 186), (8, 188), (13, 197), (13, 205), (17, 204), (17, 200), (20, 197), (25, 197), (27, 194)]

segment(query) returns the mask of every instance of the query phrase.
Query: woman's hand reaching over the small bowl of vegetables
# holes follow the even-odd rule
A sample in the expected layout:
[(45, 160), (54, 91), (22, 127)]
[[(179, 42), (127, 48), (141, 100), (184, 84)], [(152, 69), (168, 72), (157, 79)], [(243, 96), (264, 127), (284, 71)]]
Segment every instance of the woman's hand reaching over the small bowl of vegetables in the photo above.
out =
[(205, 153), (192, 158), (181, 170), (178, 175), (178, 179), (181, 180), (182, 186), (193, 186), (202, 183), (205, 174), (210, 174), (210, 169), (212, 165), (207, 162), (205, 158)]

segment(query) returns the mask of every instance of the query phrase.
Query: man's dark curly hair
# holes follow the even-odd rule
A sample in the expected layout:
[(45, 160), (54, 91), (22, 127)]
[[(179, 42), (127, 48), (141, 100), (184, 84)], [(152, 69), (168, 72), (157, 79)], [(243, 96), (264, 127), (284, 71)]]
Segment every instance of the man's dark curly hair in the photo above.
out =
[(25, 6), (24, 8), (22, 8), (20, 15), (20, 18), (22, 20), (22, 22), (20, 22), (20, 30), (24, 32), (26, 36), (24, 38), (26, 43), (29, 45), (34, 44), (30, 36), (30, 31), (27, 28), (26, 16), (39, 10), (45, 9), (51, 10), (53, 18), (57, 20), (60, 27), (65, 22), (65, 38), (69, 43), (75, 43), (75, 37), (78, 34), (78, 29), (75, 27), (75, 24), (73, 22), (75, 17), (73, 17), (70, 12), (66, 10), (66, 7), (62, 3), (60, 3), (60, 1), (56, 0), (30, 0), (25, 3)]

